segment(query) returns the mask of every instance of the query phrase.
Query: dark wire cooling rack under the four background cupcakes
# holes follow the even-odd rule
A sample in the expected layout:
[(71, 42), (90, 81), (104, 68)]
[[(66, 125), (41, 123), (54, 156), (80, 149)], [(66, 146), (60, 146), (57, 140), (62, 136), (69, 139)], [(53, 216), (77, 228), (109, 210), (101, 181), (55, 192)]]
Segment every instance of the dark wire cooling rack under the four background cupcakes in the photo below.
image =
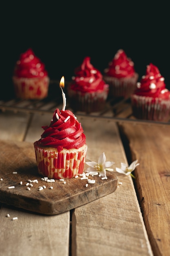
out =
[[(67, 82), (65, 85), (67, 86)], [(66, 91), (66, 90), (65, 90)], [(69, 106), (69, 98), (66, 94), (67, 104), (66, 109), (71, 109)], [(54, 112), (56, 108), (62, 108), (62, 96), (61, 90), (59, 87), (59, 81), (51, 81), (49, 85), (49, 94), (46, 99), (42, 100), (22, 100), (11, 98), (8, 100), (0, 100), (0, 110), (4, 111), (13, 111), (17, 112), (27, 112), (27, 113), (39, 113), (43, 114), (51, 114)], [(73, 111), (73, 110), (72, 110)], [(76, 112), (76, 115), (82, 118), (102, 118), (108, 119), (115, 122), (128, 122), (133, 124), (156, 124), (156, 125), (170, 125), (170, 119), (167, 122), (159, 122), (159, 121), (150, 121), (150, 120), (141, 120), (136, 119), (132, 115), (132, 108), (130, 104), (130, 99), (108, 99), (106, 101), (106, 106), (102, 110), (102, 112), (92, 112), (90, 114), (86, 114), (85, 112)]]

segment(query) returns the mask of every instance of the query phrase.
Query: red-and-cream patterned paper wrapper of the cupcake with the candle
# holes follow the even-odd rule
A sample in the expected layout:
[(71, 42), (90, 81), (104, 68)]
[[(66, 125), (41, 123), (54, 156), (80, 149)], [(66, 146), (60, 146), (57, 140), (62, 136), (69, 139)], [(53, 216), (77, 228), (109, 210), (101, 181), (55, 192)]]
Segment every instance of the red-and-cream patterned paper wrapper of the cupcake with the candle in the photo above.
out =
[(69, 179), (84, 171), (86, 145), (77, 150), (64, 150), (64, 153), (62, 153), (63, 150), (59, 153), (35, 145), (34, 148), (38, 172), (43, 177), (57, 180)]

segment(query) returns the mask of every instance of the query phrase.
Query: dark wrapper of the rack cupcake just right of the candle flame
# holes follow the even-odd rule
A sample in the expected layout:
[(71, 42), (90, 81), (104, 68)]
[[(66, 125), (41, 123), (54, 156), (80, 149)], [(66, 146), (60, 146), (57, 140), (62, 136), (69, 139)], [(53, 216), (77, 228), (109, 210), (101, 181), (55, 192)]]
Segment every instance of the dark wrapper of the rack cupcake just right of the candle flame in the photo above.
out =
[(74, 112), (82, 111), (86, 113), (101, 111), (108, 97), (108, 85), (104, 86), (103, 91), (86, 92), (71, 90), (68, 88), (69, 103)]

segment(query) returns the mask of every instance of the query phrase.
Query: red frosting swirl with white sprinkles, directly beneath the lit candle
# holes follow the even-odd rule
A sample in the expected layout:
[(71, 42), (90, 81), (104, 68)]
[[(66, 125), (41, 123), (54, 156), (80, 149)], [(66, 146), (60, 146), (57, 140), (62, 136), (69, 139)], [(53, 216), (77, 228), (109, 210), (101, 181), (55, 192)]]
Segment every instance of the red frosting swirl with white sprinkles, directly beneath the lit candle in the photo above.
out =
[[(66, 120), (66, 121), (65, 121)], [(39, 146), (57, 148), (58, 152), (63, 148), (80, 148), (86, 143), (86, 136), (79, 123), (70, 110), (59, 110), (53, 113), (53, 120), (49, 126), (42, 126), (44, 132), (41, 139), (36, 141)]]

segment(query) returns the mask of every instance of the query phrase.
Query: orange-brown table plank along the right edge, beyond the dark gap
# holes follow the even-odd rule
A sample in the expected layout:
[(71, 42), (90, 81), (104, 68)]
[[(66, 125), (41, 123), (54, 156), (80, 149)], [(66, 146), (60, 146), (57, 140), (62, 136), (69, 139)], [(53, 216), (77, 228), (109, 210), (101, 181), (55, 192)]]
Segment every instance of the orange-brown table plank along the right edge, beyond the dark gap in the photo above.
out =
[(130, 141), (136, 187), (155, 256), (170, 255), (170, 126), (121, 124)]

